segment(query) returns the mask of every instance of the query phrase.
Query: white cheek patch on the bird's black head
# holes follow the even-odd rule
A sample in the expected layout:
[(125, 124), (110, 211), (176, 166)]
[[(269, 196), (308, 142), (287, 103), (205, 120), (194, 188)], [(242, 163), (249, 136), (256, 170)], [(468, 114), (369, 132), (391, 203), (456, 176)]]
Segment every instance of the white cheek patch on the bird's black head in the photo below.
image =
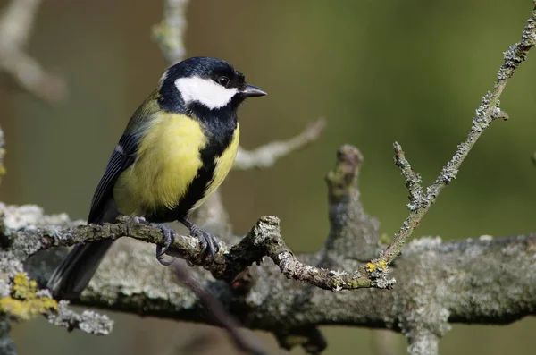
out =
[(229, 104), (230, 99), (239, 92), (236, 88), (224, 88), (214, 80), (197, 76), (179, 78), (175, 80), (175, 86), (186, 104), (197, 101), (211, 110)]

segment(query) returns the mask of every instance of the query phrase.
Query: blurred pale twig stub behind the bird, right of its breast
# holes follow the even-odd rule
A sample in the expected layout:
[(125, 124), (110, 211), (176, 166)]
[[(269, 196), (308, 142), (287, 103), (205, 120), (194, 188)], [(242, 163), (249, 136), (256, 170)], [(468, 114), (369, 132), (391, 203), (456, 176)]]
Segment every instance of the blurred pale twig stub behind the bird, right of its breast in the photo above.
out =
[(325, 119), (321, 118), (307, 125), (304, 131), (291, 139), (273, 141), (254, 150), (246, 150), (240, 147), (233, 169), (249, 170), (270, 167), (282, 156), (287, 156), (298, 149), (304, 148), (318, 139), (325, 124)]

